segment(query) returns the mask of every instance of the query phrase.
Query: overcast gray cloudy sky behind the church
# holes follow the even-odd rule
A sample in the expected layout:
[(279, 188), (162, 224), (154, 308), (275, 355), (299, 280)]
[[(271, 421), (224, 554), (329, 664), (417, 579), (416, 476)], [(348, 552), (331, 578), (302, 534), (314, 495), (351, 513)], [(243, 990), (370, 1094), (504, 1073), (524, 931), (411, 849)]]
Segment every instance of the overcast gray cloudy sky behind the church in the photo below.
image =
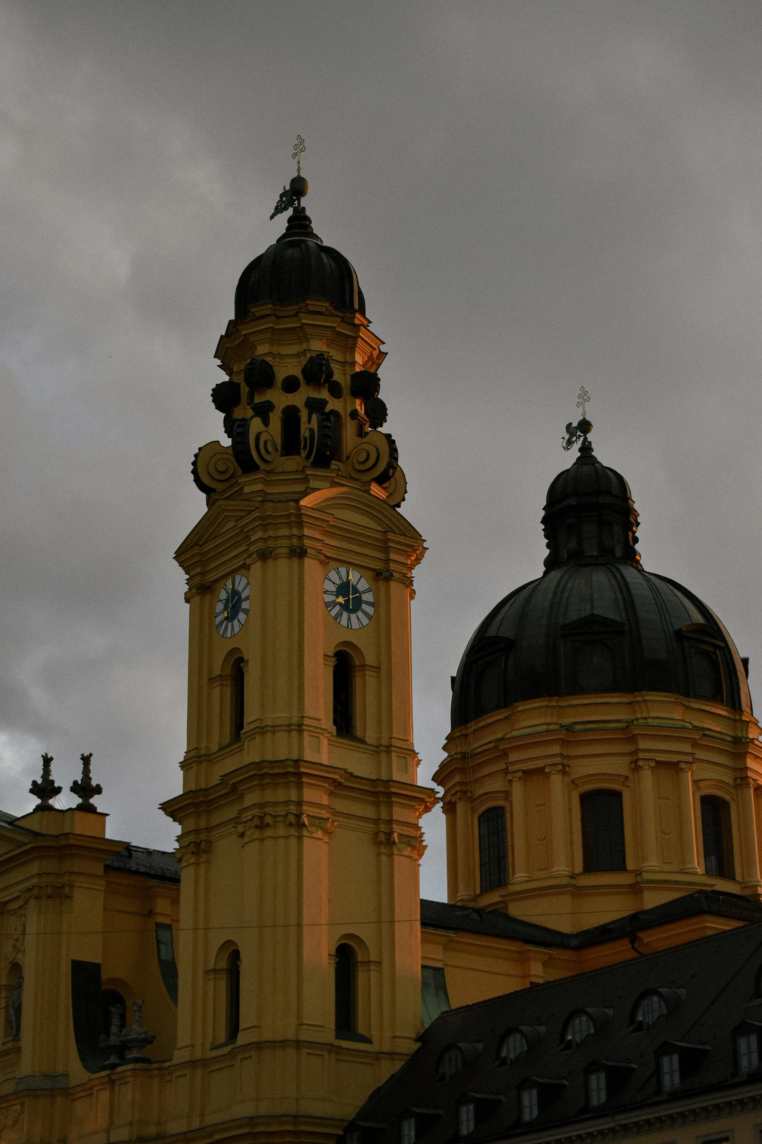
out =
[[(759, 2), (0, 9), (1, 805), (94, 752), (112, 836), (170, 848), (213, 360), (307, 140), (316, 231), (386, 340), (427, 539), (424, 781), (473, 629), (541, 571), (580, 384), (641, 511), (762, 693)], [(71, 796), (69, 796), (71, 799)], [(445, 896), (442, 820), (422, 892)]]

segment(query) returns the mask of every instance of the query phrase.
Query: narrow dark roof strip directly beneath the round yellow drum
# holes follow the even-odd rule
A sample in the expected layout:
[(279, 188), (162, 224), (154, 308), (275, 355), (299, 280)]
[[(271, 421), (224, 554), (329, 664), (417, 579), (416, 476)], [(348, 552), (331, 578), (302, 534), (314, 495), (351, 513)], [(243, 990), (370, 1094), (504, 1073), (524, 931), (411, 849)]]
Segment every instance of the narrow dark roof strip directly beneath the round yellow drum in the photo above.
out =
[(739, 893), (720, 893), (717, 890), (697, 890), (681, 898), (673, 898), (660, 906), (626, 914), (614, 921), (577, 934), (548, 929), (534, 922), (511, 917), (501, 909), (477, 909), (475, 906), (458, 906), (450, 901), (421, 899), (421, 925), (426, 929), (465, 930), (468, 934), (487, 934), (514, 942), (550, 950), (584, 950), (604, 942), (634, 937), (642, 930), (685, 917), (711, 914), (714, 917), (732, 917), (741, 922), (762, 922), (762, 905), (744, 898)]

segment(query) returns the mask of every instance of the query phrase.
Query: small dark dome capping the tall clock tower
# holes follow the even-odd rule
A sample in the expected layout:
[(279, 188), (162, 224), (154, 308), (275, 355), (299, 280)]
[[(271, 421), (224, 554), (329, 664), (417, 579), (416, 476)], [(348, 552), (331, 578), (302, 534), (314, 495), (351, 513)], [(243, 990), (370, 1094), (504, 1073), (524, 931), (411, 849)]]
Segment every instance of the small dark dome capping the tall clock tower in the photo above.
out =
[(316, 297), (338, 310), (365, 313), (365, 299), (351, 262), (312, 232), (304, 207), (296, 207), (286, 230), (246, 267), (236, 287), (236, 320), (252, 305), (291, 305)]

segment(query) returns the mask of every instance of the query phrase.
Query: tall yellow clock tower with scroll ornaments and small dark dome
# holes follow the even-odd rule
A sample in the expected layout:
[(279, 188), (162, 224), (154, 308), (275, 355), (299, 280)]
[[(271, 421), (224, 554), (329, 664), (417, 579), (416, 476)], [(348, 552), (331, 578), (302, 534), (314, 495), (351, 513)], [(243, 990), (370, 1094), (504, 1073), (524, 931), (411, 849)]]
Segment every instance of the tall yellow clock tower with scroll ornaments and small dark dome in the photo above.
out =
[(212, 391), (227, 439), (193, 459), (206, 513), (176, 554), (190, 641), (183, 791), (164, 804), (182, 867), (172, 1129), (209, 1139), (239, 1121), (257, 1139), (334, 1141), (421, 1031), (434, 795), (416, 785), (410, 607), (424, 548), (399, 510), (382, 343), (305, 193), (300, 174), (285, 232), (238, 283)]

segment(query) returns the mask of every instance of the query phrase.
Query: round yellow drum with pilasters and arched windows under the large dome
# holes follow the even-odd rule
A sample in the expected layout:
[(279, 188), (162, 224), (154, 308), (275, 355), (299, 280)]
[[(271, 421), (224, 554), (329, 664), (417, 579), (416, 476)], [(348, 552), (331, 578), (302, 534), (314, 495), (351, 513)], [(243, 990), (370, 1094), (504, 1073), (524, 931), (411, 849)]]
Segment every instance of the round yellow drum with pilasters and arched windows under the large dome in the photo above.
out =
[[(740, 665), (739, 665), (740, 666)], [(459, 728), (444, 787), (451, 901), (574, 932), (699, 889), (759, 897), (760, 726), (678, 696), (571, 696), (514, 704)], [(622, 794), (627, 869), (585, 873), (579, 799)], [(735, 877), (707, 874), (700, 799), (730, 805)], [(503, 805), (507, 887), (481, 892), (478, 816)]]

